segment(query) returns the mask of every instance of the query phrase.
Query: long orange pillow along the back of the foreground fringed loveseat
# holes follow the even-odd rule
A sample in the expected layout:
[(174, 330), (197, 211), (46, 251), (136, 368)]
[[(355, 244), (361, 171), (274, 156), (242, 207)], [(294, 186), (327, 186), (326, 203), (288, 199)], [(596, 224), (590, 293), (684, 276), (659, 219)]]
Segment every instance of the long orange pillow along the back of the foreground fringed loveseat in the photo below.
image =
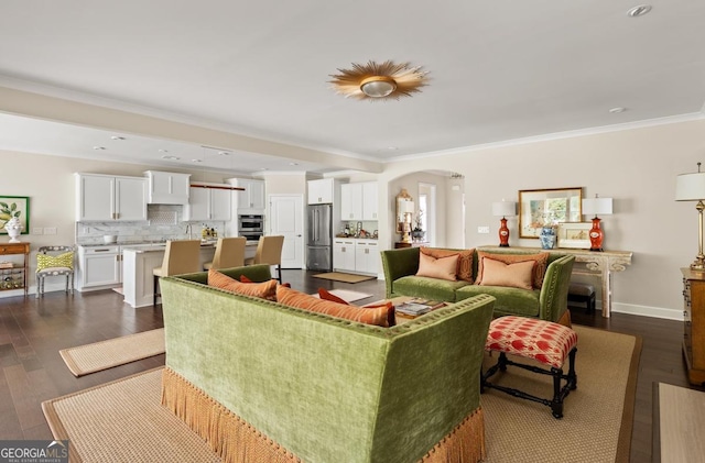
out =
[(311, 295), (300, 293), (284, 286), (276, 287), (276, 300), (284, 306), (326, 313), (332, 317), (358, 321), (360, 323), (389, 327), (387, 305), (377, 308), (361, 309), (347, 304), (333, 302)]

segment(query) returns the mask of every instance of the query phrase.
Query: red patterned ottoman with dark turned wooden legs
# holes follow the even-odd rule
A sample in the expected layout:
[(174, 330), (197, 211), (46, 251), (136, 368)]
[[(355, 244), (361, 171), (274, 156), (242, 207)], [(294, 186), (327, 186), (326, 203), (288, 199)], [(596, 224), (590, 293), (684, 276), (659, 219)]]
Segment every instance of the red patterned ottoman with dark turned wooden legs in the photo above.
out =
[[(555, 418), (562, 418), (563, 399), (571, 390), (577, 387), (577, 376), (575, 374), (576, 344), (577, 334), (563, 324), (514, 316), (495, 319), (489, 324), (485, 349), (499, 352), (499, 360), (497, 364), (481, 375), (480, 392), (484, 393), (485, 388), (494, 388), (514, 397), (538, 401), (551, 407)], [(507, 359), (507, 354), (533, 359), (551, 368), (546, 370), (512, 362)], [(566, 356), (568, 357), (567, 375), (563, 374), (563, 363)], [(534, 373), (553, 376), (553, 399), (547, 400), (519, 389), (490, 383), (489, 378), (498, 370), (507, 371), (507, 365), (514, 365)], [(566, 381), (563, 387), (561, 387), (561, 379)]]

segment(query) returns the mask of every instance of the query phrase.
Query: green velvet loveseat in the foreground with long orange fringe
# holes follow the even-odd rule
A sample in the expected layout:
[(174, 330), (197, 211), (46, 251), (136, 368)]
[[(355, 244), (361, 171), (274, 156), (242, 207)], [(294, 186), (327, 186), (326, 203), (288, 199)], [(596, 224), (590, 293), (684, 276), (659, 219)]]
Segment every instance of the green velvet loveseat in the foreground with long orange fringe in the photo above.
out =
[[(269, 272), (267, 265), (223, 271), (253, 282)], [(382, 328), (206, 282), (206, 273), (161, 279), (162, 401), (225, 461), (485, 456), (479, 374), (492, 297)]]

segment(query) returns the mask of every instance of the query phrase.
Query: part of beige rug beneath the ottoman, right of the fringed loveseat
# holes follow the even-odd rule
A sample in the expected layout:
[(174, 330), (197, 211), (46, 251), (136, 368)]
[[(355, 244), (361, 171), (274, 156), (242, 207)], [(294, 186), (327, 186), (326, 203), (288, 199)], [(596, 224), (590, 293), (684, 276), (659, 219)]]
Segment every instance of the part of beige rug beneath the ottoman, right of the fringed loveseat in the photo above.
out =
[[(574, 326), (577, 389), (563, 403), (563, 418), (534, 401), (486, 389), (487, 462), (628, 462), (641, 339)], [(497, 354), (486, 357), (485, 370)], [(513, 359), (527, 363), (523, 359)], [(567, 365), (566, 365), (567, 368)], [(491, 382), (539, 397), (553, 396), (549, 375), (508, 366)]]

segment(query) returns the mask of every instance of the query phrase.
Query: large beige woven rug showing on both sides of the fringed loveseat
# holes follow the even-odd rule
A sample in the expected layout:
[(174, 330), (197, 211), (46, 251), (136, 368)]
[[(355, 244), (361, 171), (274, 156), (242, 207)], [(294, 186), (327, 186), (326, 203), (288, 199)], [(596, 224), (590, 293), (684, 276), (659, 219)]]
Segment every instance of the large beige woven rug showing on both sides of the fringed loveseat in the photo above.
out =
[[(641, 341), (574, 329), (578, 383), (565, 400), (564, 417), (556, 420), (546, 406), (488, 389), (481, 397), (486, 462), (629, 461)], [(156, 368), (48, 400), (42, 409), (54, 437), (70, 440), (76, 462), (217, 461), (195, 433), (161, 407), (160, 375)], [(498, 374), (492, 379), (499, 378)], [(500, 381), (551, 396), (545, 375), (509, 366)]]

